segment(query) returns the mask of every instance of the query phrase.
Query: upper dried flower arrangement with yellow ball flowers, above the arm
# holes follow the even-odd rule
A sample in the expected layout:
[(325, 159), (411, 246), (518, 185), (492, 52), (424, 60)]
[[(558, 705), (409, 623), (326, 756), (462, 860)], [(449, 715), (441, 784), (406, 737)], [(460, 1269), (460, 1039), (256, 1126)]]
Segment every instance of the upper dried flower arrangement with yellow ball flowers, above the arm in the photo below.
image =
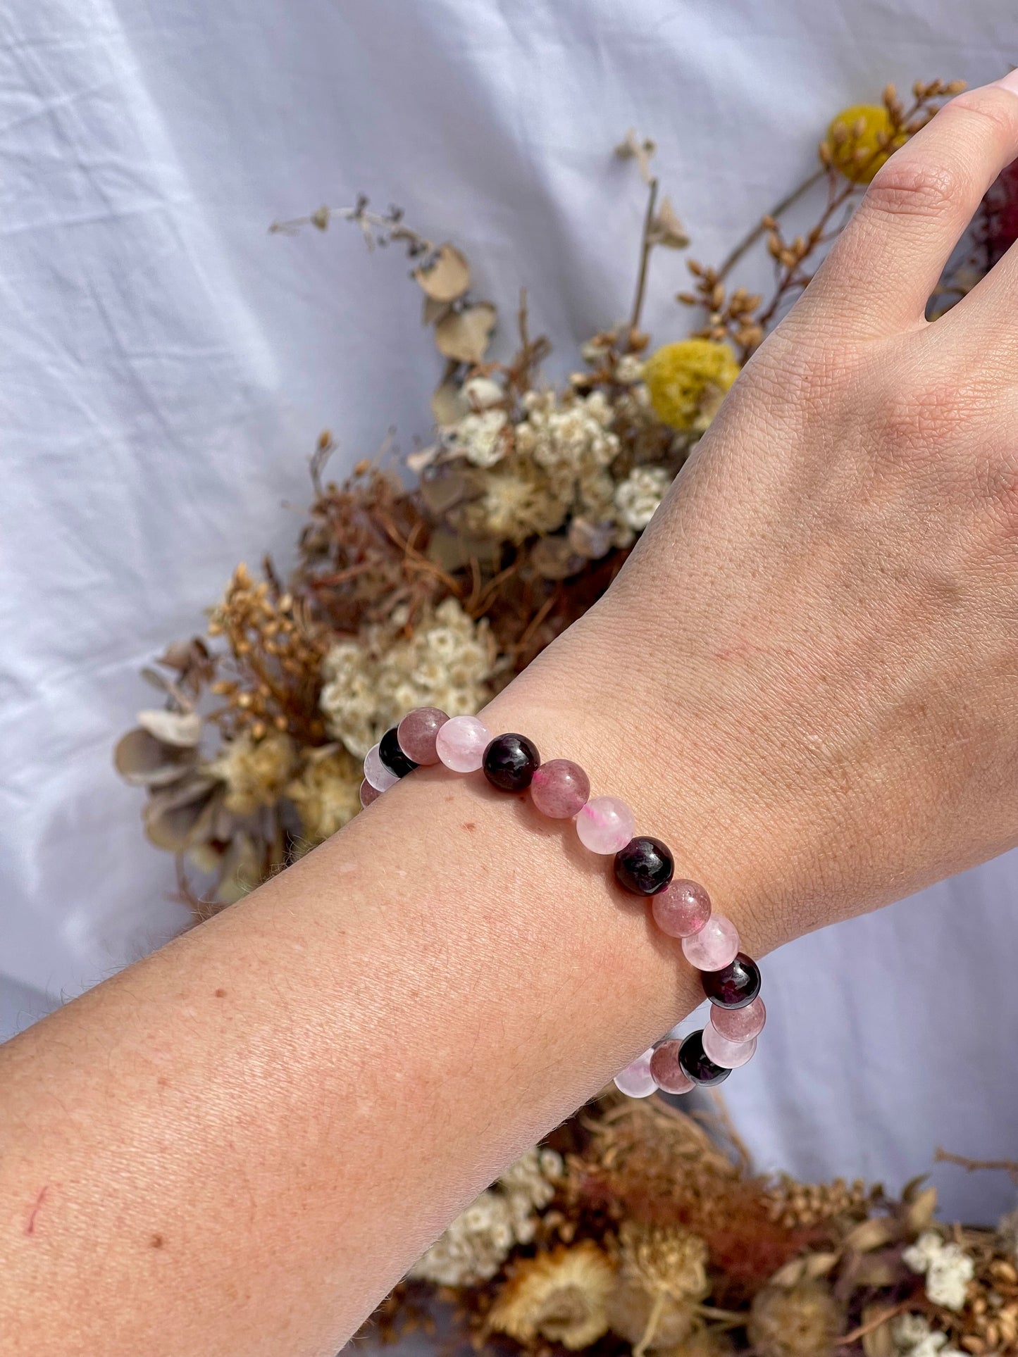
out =
[[(404, 475), (376, 459), (342, 486), (327, 482), (333, 441), (323, 434), (289, 581), (267, 559), (261, 579), (238, 566), (206, 635), (170, 646), (143, 672), (164, 706), (138, 714), (115, 765), (147, 790), (145, 832), (175, 854), (195, 917), (346, 824), (360, 809), (364, 754), (409, 708), (476, 711), (607, 589), (865, 185), (960, 88), (920, 81), (905, 107), (888, 85), (881, 103), (839, 114), (818, 170), (721, 267), (688, 261), (694, 288), (677, 300), (698, 308), (700, 323), (656, 351), (641, 330), (650, 259), (688, 237), (671, 198), (658, 197), (654, 144), (630, 132), (616, 153), (635, 163), (646, 190), (633, 307), (581, 346), (584, 366), (562, 389), (540, 383), (550, 345), (531, 337), (525, 293), (516, 354), (490, 361), (497, 309), (474, 296), (468, 261), (399, 209), (376, 213), (360, 198), (271, 228), (326, 231), (342, 220), (369, 250), (404, 250), (444, 370), (434, 441), (406, 457)], [(785, 214), (820, 183), (816, 224), (787, 239)], [(989, 195), (934, 309), (964, 294), (1018, 233), (1015, 187), (1004, 176)], [(729, 288), (759, 243), (774, 259), (768, 299)]]

